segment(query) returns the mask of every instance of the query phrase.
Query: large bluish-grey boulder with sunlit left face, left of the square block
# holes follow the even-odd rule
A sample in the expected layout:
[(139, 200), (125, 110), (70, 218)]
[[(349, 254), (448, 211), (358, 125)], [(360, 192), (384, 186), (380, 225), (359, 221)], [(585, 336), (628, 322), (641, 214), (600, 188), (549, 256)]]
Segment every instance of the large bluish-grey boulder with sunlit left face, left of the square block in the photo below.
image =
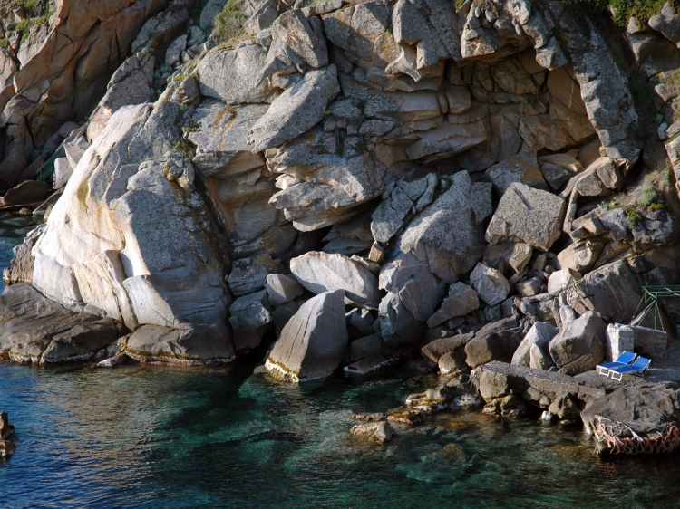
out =
[(491, 200), (488, 187), (472, 184), (466, 171), (452, 177), (451, 187), (415, 216), (399, 239), (402, 253), (413, 253), (447, 283), (471, 270), (484, 253), (479, 202)]

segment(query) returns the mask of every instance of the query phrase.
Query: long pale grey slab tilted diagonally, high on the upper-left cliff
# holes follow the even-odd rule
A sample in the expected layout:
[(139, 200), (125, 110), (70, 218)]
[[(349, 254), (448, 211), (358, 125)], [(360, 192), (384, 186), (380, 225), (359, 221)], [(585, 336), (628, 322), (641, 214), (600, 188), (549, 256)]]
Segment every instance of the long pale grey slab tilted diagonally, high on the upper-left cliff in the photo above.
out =
[(334, 64), (306, 72), (305, 78), (278, 96), (253, 125), (248, 137), (252, 150), (272, 149), (311, 129), (324, 118), (328, 102), (338, 93), (340, 86)]

